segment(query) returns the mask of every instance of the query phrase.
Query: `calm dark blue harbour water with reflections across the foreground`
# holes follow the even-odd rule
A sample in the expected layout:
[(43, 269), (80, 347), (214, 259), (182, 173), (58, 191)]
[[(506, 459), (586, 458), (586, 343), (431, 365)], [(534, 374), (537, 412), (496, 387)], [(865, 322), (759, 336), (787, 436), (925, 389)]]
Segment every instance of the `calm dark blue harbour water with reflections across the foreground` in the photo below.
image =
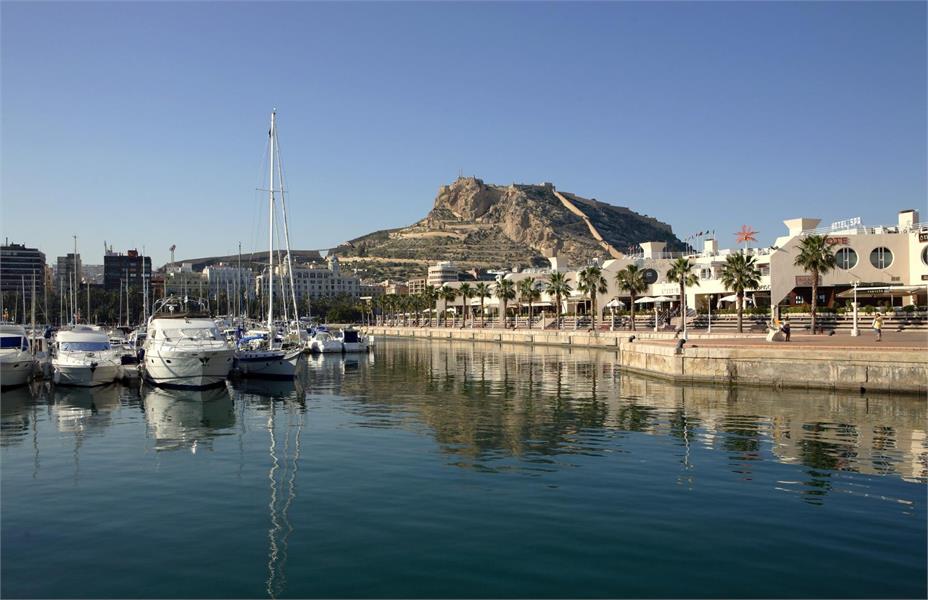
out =
[(2, 596), (926, 596), (924, 399), (489, 344), (306, 367), (4, 392)]

